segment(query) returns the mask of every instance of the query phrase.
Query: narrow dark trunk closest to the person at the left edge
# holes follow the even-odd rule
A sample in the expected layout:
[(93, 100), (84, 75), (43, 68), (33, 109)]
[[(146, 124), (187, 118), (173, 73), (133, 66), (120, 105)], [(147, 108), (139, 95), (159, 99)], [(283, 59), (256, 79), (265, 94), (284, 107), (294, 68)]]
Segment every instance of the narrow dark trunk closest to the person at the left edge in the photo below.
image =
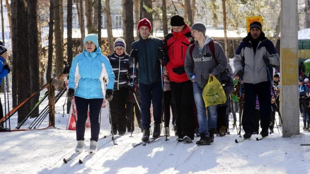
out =
[[(17, 50), (18, 48), (18, 38), (17, 38), (17, 0), (11, 1), (11, 5), (13, 6), (12, 8), (12, 13), (11, 13), (11, 19), (12, 19), (12, 26), (11, 26), (11, 37), (12, 38), (12, 55), (13, 55), (13, 62), (12, 62), (12, 67), (17, 67), (18, 65), (18, 60), (17, 60)], [(14, 27), (14, 28), (13, 28)], [(14, 32), (15, 31), (15, 32)], [(18, 79), (17, 79), (17, 70), (18, 68), (13, 68), (12, 69), (12, 107), (15, 108), (18, 103), (17, 95), (18, 95)]]

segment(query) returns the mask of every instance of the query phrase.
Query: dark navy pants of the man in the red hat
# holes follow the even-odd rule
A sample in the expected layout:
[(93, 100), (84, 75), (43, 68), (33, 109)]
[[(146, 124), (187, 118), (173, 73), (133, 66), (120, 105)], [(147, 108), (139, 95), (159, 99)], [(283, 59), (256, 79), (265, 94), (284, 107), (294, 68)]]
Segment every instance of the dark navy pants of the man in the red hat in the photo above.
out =
[(139, 83), (139, 94), (141, 99), (142, 128), (150, 128), (150, 102), (153, 104), (153, 118), (155, 124), (162, 122), (162, 82), (149, 85)]

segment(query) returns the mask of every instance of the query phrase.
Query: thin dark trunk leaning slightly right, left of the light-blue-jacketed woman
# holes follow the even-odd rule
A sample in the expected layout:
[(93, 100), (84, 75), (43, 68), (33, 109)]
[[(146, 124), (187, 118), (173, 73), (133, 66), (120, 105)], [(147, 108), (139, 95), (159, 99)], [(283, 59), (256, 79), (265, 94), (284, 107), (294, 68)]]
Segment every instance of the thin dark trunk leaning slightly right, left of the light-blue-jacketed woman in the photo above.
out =
[(49, 22), (49, 47), (48, 47), (48, 61), (46, 70), (46, 81), (52, 78), (53, 70), (53, 33), (54, 33), (54, 0), (50, 0), (50, 22)]

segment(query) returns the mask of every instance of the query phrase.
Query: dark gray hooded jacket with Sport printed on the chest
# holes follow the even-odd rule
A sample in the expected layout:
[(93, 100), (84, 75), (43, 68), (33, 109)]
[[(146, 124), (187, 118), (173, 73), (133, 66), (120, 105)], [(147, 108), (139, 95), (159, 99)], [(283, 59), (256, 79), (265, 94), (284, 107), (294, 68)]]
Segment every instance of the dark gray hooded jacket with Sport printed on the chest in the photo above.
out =
[[(227, 66), (227, 60), (222, 46), (214, 42), (215, 59), (212, 56), (209, 48), (209, 43), (213, 41), (212, 38), (206, 36), (206, 42), (204, 44), (202, 52), (200, 52), (198, 42), (195, 41), (195, 48), (193, 54), (190, 53), (191, 45), (186, 52), (185, 58), (185, 72), (191, 79), (189, 73), (195, 74), (194, 81), (199, 84), (201, 88), (204, 88), (209, 80), (209, 74), (212, 74), (217, 79), (220, 78), (220, 74), (225, 70)], [(193, 56), (193, 57), (192, 57)], [(217, 63), (216, 63), (217, 62)]]

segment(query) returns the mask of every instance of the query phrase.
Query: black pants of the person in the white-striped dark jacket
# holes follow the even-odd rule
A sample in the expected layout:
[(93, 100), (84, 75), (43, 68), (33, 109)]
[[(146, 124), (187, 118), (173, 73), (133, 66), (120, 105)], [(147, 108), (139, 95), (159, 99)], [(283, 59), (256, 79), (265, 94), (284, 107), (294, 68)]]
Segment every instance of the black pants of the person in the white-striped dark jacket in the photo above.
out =
[(127, 127), (126, 101), (129, 95), (129, 86), (113, 91), (113, 99), (110, 101), (110, 111), (113, 132), (125, 133)]

